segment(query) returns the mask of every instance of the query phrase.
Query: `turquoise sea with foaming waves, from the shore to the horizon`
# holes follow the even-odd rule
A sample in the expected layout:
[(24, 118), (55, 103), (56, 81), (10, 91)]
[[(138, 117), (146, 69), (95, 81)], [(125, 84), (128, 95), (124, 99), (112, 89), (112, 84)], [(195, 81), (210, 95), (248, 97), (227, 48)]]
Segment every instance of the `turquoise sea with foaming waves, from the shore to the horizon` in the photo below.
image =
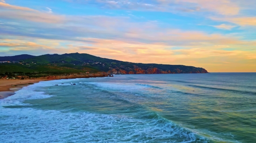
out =
[(255, 141), (256, 73), (42, 81), (0, 100), (0, 143)]

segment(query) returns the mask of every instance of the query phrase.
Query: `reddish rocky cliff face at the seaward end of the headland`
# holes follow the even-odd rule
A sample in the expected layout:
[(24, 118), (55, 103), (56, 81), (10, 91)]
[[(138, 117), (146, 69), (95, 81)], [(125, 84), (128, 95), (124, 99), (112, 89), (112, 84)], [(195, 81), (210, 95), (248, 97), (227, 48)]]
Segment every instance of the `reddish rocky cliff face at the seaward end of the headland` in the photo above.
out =
[(126, 66), (120, 66), (115, 68), (109, 68), (109, 74), (196, 74), (196, 73), (208, 73), (204, 68), (185, 68), (182, 70), (180, 68), (175, 68), (172, 70), (162, 70), (159, 68), (149, 67), (149, 68), (140, 68), (136, 65), (133, 65), (132, 68)]

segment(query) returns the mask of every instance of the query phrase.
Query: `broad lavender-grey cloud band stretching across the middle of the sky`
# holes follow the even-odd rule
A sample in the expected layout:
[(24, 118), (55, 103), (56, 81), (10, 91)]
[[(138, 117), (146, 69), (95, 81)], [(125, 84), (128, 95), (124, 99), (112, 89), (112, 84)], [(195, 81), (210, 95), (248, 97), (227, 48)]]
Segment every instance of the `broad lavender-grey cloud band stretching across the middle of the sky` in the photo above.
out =
[[(170, 46), (209, 46), (250, 44), (236, 37), (207, 34), (202, 31), (182, 31), (164, 28), (156, 22), (131, 22), (127, 18), (108, 16), (59, 16), (55, 14), (27, 12), (12, 13), (12, 18), (39, 22), (37, 25), (3, 24), (0, 32), (10, 36), (26, 36), (45, 39), (88, 42), (87, 37), (99, 39), (126, 39), (140, 43), (164, 43)], [(26, 16), (26, 17), (25, 17)], [(5, 17), (0, 13), (0, 18)], [(24, 18), (23, 18), (24, 17)], [(55, 19), (54, 19), (55, 18)], [(40, 24), (46, 23), (46, 24)], [(56, 24), (54, 24), (56, 23)], [(26, 25), (29, 23), (26, 22)]]

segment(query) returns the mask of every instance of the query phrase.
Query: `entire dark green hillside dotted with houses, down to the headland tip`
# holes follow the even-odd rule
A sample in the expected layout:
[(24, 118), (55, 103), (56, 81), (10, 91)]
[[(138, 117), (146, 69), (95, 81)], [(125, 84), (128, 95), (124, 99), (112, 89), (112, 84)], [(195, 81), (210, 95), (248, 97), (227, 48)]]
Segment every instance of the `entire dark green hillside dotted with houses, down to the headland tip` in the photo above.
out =
[(188, 74), (208, 73), (204, 68), (184, 65), (144, 64), (122, 62), (101, 58), (89, 54), (47, 54), (41, 56), (18, 55), (1, 56), (0, 73), (27, 73), (27, 75), (96, 73), (99, 71), (110, 74)]

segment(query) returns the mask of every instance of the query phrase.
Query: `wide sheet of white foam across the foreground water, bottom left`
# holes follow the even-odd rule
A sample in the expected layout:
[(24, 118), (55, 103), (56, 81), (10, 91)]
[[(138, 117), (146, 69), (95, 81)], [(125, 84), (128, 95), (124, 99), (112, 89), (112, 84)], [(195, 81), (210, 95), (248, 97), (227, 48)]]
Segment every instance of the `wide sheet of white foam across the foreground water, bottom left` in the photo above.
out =
[[(157, 119), (32, 108), (6, 108), (0, 115), (1, 143), (190, 143), (197, 138)], [(198, 143), (207, 143), (201, 140)]]

